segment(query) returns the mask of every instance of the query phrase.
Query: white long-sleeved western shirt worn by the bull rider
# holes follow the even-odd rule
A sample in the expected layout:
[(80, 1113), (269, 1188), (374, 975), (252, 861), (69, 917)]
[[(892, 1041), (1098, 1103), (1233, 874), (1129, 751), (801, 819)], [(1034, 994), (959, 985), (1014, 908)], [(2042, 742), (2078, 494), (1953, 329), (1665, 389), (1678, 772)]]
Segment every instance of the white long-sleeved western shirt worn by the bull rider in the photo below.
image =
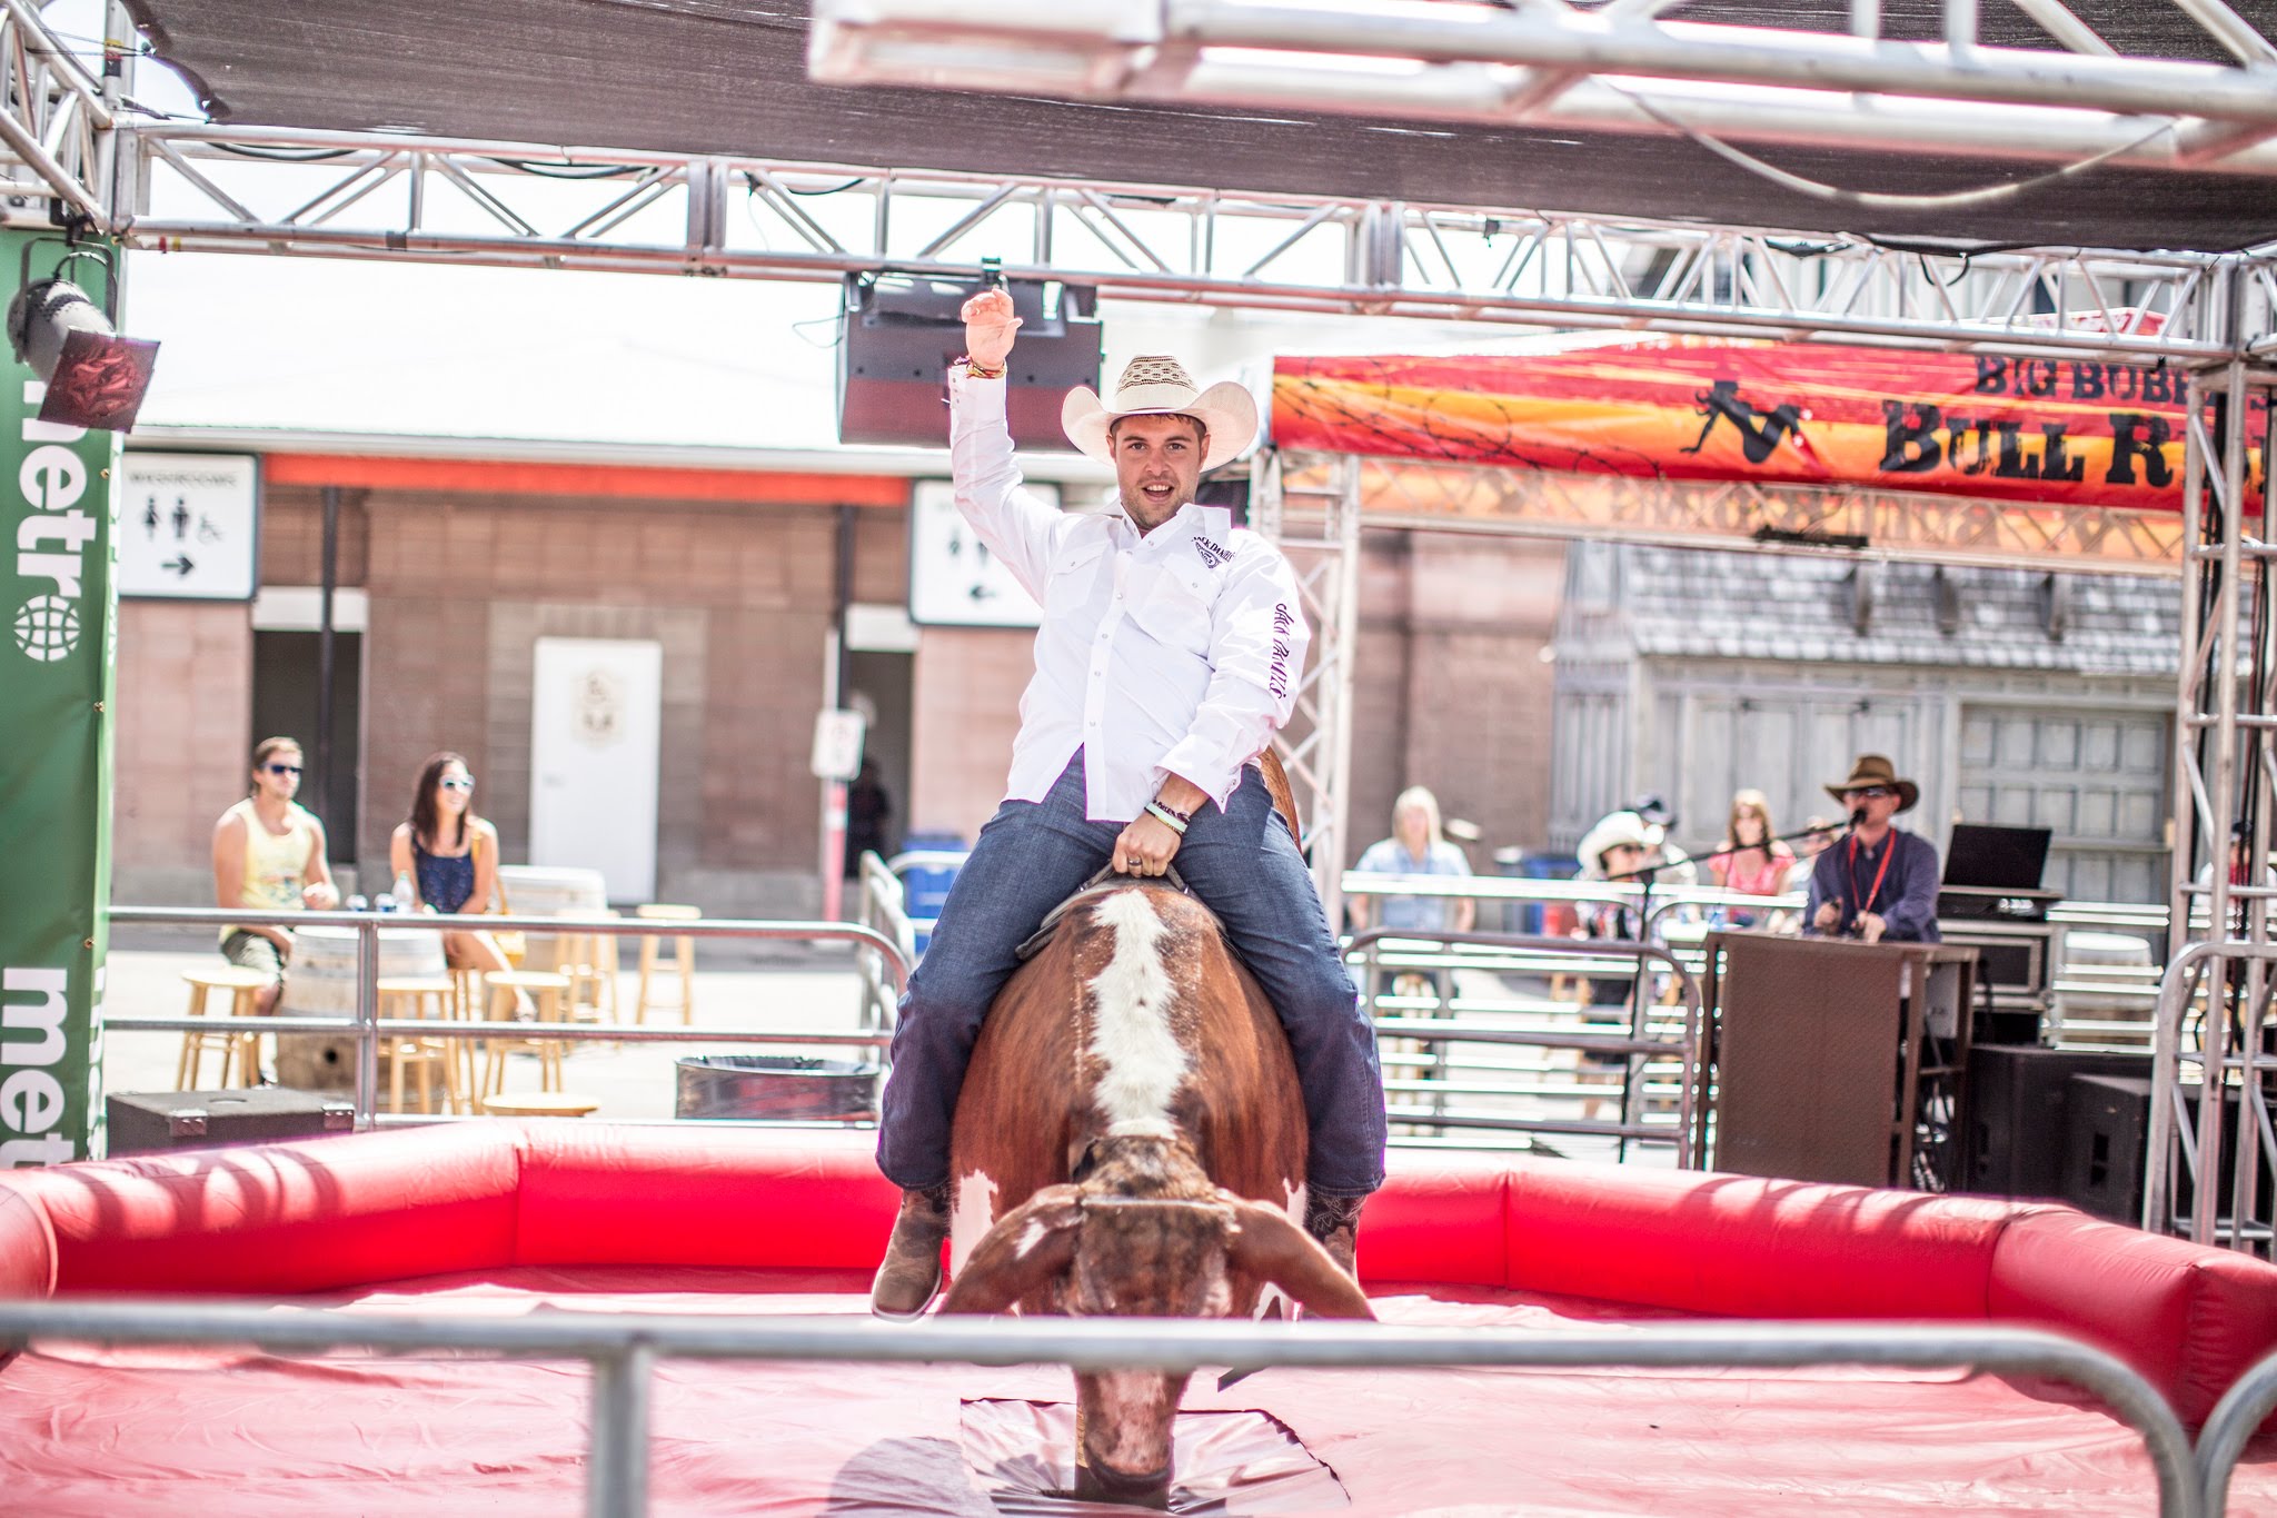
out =
[(1020, 487), (1004, 382), (950, 371), (956, 510), (1043, 605), (1006, 799), (1041, 801), (1084, 751), (1093, 822), (1129, 822), (1166, 774), (1220, 808), (1289, 721), (1312, 630), (1289, 560), (1189, 501), (1148, 535), (1120, 510), (1061, 514)]

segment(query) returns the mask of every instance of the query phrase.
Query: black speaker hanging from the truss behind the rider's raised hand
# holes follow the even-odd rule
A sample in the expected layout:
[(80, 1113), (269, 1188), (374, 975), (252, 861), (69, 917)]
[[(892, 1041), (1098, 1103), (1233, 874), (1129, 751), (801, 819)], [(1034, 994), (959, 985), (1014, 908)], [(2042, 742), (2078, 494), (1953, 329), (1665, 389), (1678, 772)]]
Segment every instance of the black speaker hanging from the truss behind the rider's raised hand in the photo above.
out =
[[(924, 275), (852, 275), (838, 339), (838, 442), (943, 448), (950, 442), (945, 371), (965, 350), (956, 314), (984, 287)], [(1059, 405), (1077, 385), (1100, 387), (1095, 296), (1079, 284), (1013, 280), (1020, 339), (1004, 371), (1004, 416), (1020, 448), (1068, 448)]]

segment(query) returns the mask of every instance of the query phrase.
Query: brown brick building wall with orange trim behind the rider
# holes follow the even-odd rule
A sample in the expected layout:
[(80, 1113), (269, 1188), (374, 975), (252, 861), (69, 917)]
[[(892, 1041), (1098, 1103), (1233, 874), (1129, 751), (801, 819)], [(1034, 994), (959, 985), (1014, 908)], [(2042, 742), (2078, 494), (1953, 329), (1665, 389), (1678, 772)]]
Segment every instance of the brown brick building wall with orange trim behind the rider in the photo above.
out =
[[(929, 469), (938, 471), (938, 462)], [(125, 601), (118, 646), (118, 901), (209, 899), (212, 819), (244, 794), (262, 721), (294, 728), (312, 635), (273, 608), (321, 580), (321, 503), (339, 492), (332, 858), (385, 876), (419, 762), (467, 756), (508, 863), (531, 844), (531, 685), (540, 637), (663, 646), (656, 897), (715, 915), (820, 904), (813, 712), (824, 703), (840, 544), (845, 592), (897, 617), (909, 478), (510, 460), (266, 455), (262, 601)], [(1389, 831), (1409, 783), (1489, 847), (1548, 822), (1548, 646), (1562, 546), (1371, 533), (1353, 762), (1353, 849)], [(348, 612), (342, 617), (342, 608)], [(1002, 794), (1031, 633), (918, 628), (886, 669), (879, 760), (893, 831), (970, 838)], [(298, 660), (298, 662), (294, 662)], [(863, 662), (868, 660), (868, 662)], [(893, 660), (904, 660), (895, 665)], [(899, 674), (890, 674), (899, 671)], [(854, 680), (856, 687), (863, 678)], [(266, 690), (264, 690), (266, 687)], [(312, 710), (312, 708), (305, 708)], [(348, 835), (342, 835), (348, 833)], [(1478, 865), (1487, 860), (1480, 853)]]

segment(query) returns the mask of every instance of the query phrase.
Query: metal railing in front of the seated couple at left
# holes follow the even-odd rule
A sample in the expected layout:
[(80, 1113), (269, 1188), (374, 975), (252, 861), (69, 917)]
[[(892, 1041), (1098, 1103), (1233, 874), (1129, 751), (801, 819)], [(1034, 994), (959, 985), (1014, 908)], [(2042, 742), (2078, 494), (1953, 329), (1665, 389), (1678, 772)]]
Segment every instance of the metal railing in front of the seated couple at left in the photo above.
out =
[[(212, 1013), (198, 1017), (141, 1017), (105, 1015), (102, 1026), (118, 1033), (326, 1033), (355, 1040), (355, 1127), (378, 1124), (380, 1090), (380, 1045), (398, 1038), (512, 1038), (512, 1040), (558, 1040), (558, 1042), (722, 1042), (722, 1045), (822, 1045), (822, 1047), (883, 1047), (893, 1038), (890, 1017), (879, 1020), (868, 999), (861, 1013), (863, 1029), (847, 1033), (840, 1029), (733, 1029), (733, 1026), (640, 1026), (619, 1022), (487, 1022), (487, 1020), (435, 1020), (435, 1017), (380, 1017), (380, 933), (469, 933), (469, 931), (524, 931), (524, 933), (592, 933), (606, 938), (738, 938), (738, 940), (802, 940), (802, 942), (849, 942), (856, 960), (865, 960), (865, 988), (870, 983), (890, 985), (899, 992), (909, 983), (909, 958), (902, 947), (852, 922), (745, 922), (745, 919), (649, 919), (649, 917), (515, 917), (483, 915), (462, 917), (446, 913), (257, 913), (250, 908), (171, 908), (171, 906), (114, 906), (112, 924), (196, 924), (196, 926), (264, 926), (264, 929), (353, 929), (355, 931), (355, 1013), (353, 1017), (235, 1017)], [(886, 1004), (890, 1006), (890, 1001)], [(567, 1010), (567, 1008), (565, 1008)], [(433, 1117), (405, 1117), (405, 1122), (433, 1122)]]

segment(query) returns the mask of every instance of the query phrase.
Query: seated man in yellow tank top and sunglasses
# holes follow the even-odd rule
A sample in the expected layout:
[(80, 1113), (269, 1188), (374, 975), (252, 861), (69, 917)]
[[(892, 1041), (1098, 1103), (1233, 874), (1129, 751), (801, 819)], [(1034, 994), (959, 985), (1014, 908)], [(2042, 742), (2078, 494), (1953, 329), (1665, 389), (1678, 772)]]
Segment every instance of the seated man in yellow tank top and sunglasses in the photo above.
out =
[[(323, 824), (294, 801), (301, 790), (301, 744), (264, 737), (253, 749), (253, 794), (214, 824), (214, 901), (223, 908), (250, 906), (264, 913), (328, 913), (339, 906), (332, 867), (323, 860)], [(221, 954), (232, 965), (260, 970), (269, 985), (255, 997), (266, 1017), (285, 992), (291, 933), (285, 929), (230, 926), (221, 931)]]

